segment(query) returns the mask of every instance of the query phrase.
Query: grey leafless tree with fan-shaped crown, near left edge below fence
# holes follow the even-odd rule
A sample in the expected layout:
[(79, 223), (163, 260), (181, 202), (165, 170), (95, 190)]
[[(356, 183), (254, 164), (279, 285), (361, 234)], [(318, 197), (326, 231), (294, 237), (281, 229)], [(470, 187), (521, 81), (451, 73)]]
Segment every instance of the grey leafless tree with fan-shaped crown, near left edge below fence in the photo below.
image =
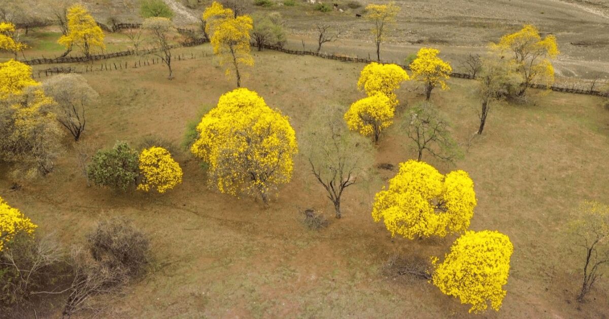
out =
[(62, 74), (44, 81), (44, 92), (57, 102), (57, 120), (72, 134), (75, 141), (85, 131), (85, 111), (99, 95), (82, 75)]

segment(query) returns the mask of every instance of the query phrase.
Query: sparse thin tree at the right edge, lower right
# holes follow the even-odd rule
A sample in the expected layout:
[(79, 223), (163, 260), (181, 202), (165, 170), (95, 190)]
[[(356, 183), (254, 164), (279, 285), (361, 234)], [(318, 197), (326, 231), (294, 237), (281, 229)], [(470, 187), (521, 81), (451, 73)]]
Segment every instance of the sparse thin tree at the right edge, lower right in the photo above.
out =
[(579, 210), (572, 213), (568, 232), (572, 235), (569, 241), (586, 253), (582, 289), (577, 296), (577, 301), (582, 302), (602, 276), (603, 267), (609, 264), (609, 205), (583, 202)]

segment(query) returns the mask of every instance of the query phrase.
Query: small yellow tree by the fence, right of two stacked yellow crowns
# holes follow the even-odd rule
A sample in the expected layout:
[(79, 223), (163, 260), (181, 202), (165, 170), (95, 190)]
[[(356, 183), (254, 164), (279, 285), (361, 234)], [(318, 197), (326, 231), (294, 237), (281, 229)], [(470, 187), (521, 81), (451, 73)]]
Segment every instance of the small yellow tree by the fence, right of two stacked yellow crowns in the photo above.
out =
[(429, 100), (431, 91), (436, 86), (448, 89), (444, 80), (448, 80), (452, 73), (452, 67), (448, 62), (438, 58), (440, 50), (429, 47), (421, 47), (417, 53), (417, 58), (410, 63), (412, 70), (412, 80), (419, 81), (425, 86), (425, 100)]

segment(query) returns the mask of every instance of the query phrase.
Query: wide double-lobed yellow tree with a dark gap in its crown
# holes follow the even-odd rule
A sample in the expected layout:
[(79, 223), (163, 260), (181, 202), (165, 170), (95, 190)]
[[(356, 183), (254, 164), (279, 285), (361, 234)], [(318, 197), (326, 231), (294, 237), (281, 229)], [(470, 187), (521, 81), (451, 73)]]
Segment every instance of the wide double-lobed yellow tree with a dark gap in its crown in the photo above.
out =
[(431, 165), (409, 160), (400, 164), (389, 188), (376, 193), (372, 218), (404, 238), (463, 233), (476, 207), (474, 182), (465, 171), (443, 176)]

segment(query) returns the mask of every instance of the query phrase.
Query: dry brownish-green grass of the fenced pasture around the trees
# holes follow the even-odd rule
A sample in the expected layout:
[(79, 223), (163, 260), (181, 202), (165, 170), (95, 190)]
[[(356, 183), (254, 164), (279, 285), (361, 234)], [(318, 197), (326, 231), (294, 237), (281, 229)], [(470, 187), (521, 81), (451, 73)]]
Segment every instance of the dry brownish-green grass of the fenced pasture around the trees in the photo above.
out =
[[(101, 147), (126, 140), (137, 146), (152, 134), (180, 149), (186, 122), (204, 105), (217, 103), (234, 81), (224, 76), (208, 45), (177, 52), (195, 58), (175, 62), (171, 81), (160, 65), (83, 74), (100, 102), (88, 111), (82, 143)], [(289, 115), (297, 133), (312, 112), (334, 103), (347, 108), (363, 96), (356, 90), (363, 64), (254, 55), (256, 65), (244, 86)], [(449, 86), (435, 90), (432, 100), (465, 143), (478, 125), (474, 82), (455, 79)], [(415, 157), (399, 126), (407, 105), (423, 100), (420, 92), (407, 84), (398, 93), (402, 106), (376, 148), (376, 164)], [(586, 303), (574, 301), (584, 255), (569, 251), (561, 234), (580, 201), (609, 202), (609, 112), (602, 103), (586, 95), (537, 92), (527, 105), (493, 106), (483, 137), (455, 165), (423, 157), (442, 173), (468, 171), (478, 200), (471, 229), (499, 230), (515, 246), (507, 297), (501, 311), (487, 317), (607, 314), (605, 278)], [(127, 216), (150, 235), (155, 255), (150, 273), (128, 286), (124, 297), (108, 300), (102, 317), (468, 317), (467, 306), (426, 281), (382, 276), (391, 256), (441, 256), (454, 240), (391, 238), (384, 225), (372, 221), (373, 196), (395, 172), (376, 170), (367, 182), (349, 188), (343, 219), (334, 220), (302, 156), (292, 182), (265, 208), (210, 190), (199, 163), (186, 151), (175, 155), (184, 182), (164, 196), (85, 187), (72, 149), (48, 177), (9, 192), (12, 179), (2, 174), (0, 189), (2, 198), (40, 225), (38, 232), (54, 232), (66, 245), (82, 243), (85, 233), (109, 216)], [(329, 227), (306, 230), (298, 210), (308, 207), (325, 211)], [(41, 304), (38, 316), (57, 311), (57, 304)]]

